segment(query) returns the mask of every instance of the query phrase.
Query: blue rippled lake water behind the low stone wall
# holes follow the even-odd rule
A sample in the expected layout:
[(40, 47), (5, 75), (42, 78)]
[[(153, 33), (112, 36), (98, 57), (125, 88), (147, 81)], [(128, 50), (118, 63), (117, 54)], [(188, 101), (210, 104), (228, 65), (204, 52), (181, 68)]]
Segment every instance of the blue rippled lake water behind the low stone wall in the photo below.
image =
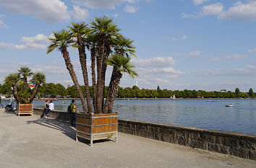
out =
[[(55, 110), (67, 111), (70, 102), (71, 100), (54, 101)], [(82, 110), (80, 100), (76, 102), (78, 109)], [(44, 101), (35, 100), (34, 107), (43, 107), (43, 103)], [(119, 118), (130, 120), (256, 135), (256, 100), (116, 100), (114, 111), (119, 112)]]

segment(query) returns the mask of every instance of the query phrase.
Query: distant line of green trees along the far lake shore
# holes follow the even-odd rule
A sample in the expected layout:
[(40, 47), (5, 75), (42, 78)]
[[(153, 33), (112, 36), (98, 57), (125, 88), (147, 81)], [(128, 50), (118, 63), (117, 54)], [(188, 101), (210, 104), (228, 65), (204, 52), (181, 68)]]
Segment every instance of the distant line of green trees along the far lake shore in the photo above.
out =
[[(11, 94), (12, 86), (8, 84), (0, 84), (1, 94)], [(85, 96), (85, 86), (80, 86), (82, 89), (82, 94)], [(105, 87), (105, 97), (108, 91), (108, 87)], [(203, 90), (168, 90), (168, 89), (140, 89), (136, 86), (133, 87), (119, 87), (118, 95), (119, 98), (169, 98), (173, 97), (175, 94), (176, 98), (255, 98), (256, 94), (253, 92), (252, 88), (249, 92), (240, 92), (239, 88), (235, 89), (235, 92), (226, 91), (225, 89), (221, 91), (211, 91), (206, 92)], [(47, 83), (41, 86), (38, 90), (38, 97), (79, 97), (76, 87), (67, 87), (67, 89), (62, 84)], [(93, 87), (90, 87), (90, 97), (93, 97)]]

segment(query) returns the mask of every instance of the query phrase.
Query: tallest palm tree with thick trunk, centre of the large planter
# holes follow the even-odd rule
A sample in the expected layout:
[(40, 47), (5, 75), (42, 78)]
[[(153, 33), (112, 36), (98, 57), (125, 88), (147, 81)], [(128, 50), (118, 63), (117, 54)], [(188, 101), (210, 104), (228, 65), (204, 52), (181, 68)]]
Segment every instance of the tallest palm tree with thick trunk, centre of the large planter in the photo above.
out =
[(106, 59), (111, 52), (110, 40), (112, 37), (119, 36), (120, 29), (114, 24), (113, 19), (108, 17), (95, 17), (95, 21), (91, 22), (92, 32), (98, 35), (98, 43), (96, 47), (96, 63), (97, 63), (97, 107), (96, 112), (101, 113), (103, 110), (103, 98), (105, 87), (105, 76), (107, 65)]

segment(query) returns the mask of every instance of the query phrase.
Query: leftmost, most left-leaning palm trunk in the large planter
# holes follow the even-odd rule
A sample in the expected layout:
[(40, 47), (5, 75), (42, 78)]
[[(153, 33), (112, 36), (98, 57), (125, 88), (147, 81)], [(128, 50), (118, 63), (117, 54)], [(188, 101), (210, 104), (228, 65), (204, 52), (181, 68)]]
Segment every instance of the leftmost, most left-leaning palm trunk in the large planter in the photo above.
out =
[(62, 53), (62, 56), (64, 58), (67, 70), (69, 71), (71, 79), (74, 83), (74, 86), (77, 88), (77, 92), (78, 92), (80, 100), (82, 102), (82, 110), (84, 110), (84, 112), (87, 112), (86, 105), (85, 105), (85, 98), (82, 95), (82, 89), (81, 89), (80, 85), (78, 84), (77, 76), (74, 73), (74, 68), (73, 68), (73, 65), (70, 61), (69, 52), (67, 51), (67, 48), (61, 48), (61, 53)]

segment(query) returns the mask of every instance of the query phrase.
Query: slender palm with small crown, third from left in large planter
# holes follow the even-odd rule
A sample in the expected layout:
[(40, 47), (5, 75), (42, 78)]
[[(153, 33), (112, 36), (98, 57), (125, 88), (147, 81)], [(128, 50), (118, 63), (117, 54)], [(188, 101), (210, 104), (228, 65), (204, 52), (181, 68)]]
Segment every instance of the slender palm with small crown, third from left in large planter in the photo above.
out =
[(96, 110), (96, 104), (97, 104), (97, 92), (96, 92), (96, 75), (95, 75), (95, 50), (96, 50), (96, 44), (98, 42), (98, 35), (96, 34), (90, 34), (88, 37), (86, 37), (86, 44), (88, 47), (88, 50), (90, 50), (90, 68), (92, 69), (92, 81), (93, 81), (93, 108)]

